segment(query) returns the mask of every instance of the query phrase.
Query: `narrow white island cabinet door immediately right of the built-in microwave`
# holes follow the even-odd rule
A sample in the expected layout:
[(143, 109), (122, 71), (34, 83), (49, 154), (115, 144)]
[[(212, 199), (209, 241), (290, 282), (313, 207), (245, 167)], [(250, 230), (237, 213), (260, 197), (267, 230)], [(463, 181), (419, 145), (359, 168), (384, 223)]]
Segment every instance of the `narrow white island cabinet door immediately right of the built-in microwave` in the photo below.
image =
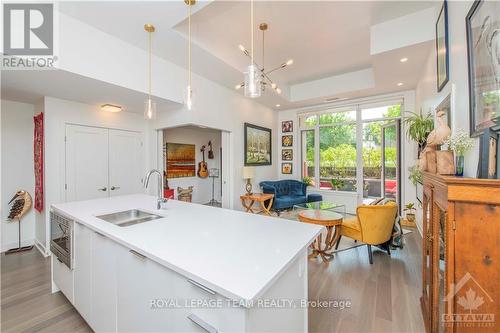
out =
[(75, 261), (74, 261), (74, 298), (75, 308), (82, 317), (90, 322), (92, 291), (92, 233), (90, 229), (75, 223)]

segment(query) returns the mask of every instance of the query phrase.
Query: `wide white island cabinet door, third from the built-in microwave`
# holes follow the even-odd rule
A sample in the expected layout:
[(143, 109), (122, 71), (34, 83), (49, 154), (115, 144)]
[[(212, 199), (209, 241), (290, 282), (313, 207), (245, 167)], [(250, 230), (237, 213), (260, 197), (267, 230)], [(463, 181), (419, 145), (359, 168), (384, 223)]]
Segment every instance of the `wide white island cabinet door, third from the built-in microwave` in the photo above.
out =
[(120, 246), (117, 276), (118, 332), (174, 332), (172, 271)]

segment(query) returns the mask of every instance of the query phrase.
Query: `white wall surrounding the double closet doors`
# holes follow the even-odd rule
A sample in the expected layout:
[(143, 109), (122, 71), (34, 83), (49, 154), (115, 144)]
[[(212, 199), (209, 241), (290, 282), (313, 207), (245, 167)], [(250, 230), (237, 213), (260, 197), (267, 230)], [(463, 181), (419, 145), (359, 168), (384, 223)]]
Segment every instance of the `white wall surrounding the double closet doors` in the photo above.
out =
[[(144, 146), (147, 147), (150, 143), (148, 141), (149, 135), (146, 135), (148, 124), (143, 119), (142, 114), (103, 112), (97, 105), (87, 105), (52, 97), (45, 97), (42, 105), (45, 113), (45, 210), (39, 217), (40, 221), (37, 221), (36, 235), (37, 240), (47, 250), (50, 230), (47, 210), (50, 205), (65, 201), (64, 136), (66, 124), (142, 132)], [(147, 149), (145, 153), (144, 172), (146, 172), (147, 161), (149, 160)], [(45, 239), (42, 236), (43, 231), (45, 231)]]

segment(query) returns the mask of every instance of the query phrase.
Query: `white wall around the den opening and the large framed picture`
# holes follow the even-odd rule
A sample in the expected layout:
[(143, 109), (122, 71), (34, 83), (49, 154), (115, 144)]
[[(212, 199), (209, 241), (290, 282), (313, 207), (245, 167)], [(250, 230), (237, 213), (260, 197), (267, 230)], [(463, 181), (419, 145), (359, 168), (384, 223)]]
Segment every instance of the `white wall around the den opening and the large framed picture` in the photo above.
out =
[[(273, 139), (277, 130), (277, 112), (257, 103), (255, 100), (245, 98), (239, 93), (222, 87), (210, 80), (193, 74), (194, 107), (189, 111), (184, 108), (161, 112), (155, 123), (156, 129), (182, 126), (187, 124), (203, 125), (209, 128), (229, 132), (230, 161), (227, 173), (230, 184), (229, 207), (241, 210), (240, 195), (245, 192), (245, 181), (242, 178), (244, 158), (244, 123), (272, 129)], [(156, 135), (152, 137), (155, 140)], [(273, 140), (273, 164), (270, 166), (255, 167), (255, 178), (252, 180), (254, 189), (258, 189), (259, 182), (277, 179), (276, 165), (278, 162), (278, 143)], [(153, 148), (158, 156), (158, 147)], [(155, 158), (151, 165), (161, 166), (161, 161)]]

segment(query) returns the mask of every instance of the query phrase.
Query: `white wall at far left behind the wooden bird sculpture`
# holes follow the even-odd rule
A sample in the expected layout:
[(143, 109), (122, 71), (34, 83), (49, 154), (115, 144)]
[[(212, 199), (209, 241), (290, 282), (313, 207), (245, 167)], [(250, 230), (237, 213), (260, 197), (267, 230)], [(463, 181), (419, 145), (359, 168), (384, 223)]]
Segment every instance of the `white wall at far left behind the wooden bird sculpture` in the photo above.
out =
[[(23, 189), (34, 199), (33, 115), (31, 104), (2, 100), (1, 102), (1, 206), (2, 252), (18, 246), (18, 223), (7, 222), (8, 201), (17, 190)], [(32, 245), (35, 238), (34, 208), (21, 219), (21, 244)]]

